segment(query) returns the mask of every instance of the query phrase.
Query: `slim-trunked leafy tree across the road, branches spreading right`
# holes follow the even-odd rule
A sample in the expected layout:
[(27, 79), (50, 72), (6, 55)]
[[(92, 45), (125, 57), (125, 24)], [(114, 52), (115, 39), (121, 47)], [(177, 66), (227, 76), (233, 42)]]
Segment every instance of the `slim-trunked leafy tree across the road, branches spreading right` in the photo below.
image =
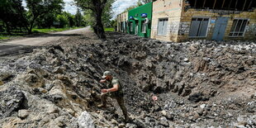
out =
[(63, 0), (26, 0), (26, 6), (29, 9), (29, 30), (31, 33), (35, 21), (38, 17), (44, 17), (49, 13), (61, 12), (64, 2)]

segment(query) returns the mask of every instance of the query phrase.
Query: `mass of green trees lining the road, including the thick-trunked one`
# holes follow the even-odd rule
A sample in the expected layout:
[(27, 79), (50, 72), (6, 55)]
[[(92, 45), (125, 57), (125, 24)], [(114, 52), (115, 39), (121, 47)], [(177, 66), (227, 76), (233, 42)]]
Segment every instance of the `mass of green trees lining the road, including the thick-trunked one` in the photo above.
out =
[(113, 2), (115, 0), (77, 0), (78, 10), (73, 15), (63, 11), (64, 0), (0, 0), (0, 32), (11, 35), (32, 33), (33, 28), (91, 25), (97, 35), (104, 38), (103, 26), (112, 25)]

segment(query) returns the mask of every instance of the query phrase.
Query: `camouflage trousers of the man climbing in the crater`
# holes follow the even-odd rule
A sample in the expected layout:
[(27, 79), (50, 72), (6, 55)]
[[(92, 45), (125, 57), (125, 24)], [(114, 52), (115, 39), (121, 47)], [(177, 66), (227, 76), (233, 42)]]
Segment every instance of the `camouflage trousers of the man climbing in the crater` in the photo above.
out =
[(101, 99), (102, 99), (102, 105), (106, 107), (107, 105), (107, 97), (111, 97), (112, 99), (115, 98), (116, 102), (118, 102), (119, 107), (121, 107), (121, 111), (123, 112), (123, 115), (125, 116), (125, 119), (128, 119), (128, 112), (125, 106), (125, 100), (124, 97), (113, 97), (110, 96), (108, 93), (102, 93)]

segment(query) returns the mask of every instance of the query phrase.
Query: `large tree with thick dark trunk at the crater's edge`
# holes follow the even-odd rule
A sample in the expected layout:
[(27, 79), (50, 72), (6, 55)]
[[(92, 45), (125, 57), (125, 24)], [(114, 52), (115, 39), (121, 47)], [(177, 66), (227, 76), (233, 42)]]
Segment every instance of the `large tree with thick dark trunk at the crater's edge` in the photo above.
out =
[[(93, 30), (97, 36), (101, 39), (106, 39), (105, 31), (102, 24), (102, 14), (104, 8), (107, 7), (107, 2), (112, 2), (110, 0), (74, 0), (78, 7), (83, 10), (91, 10), (92, 16), (95, 20), (93, 24)], [(114, 1), (114, 0), (113, 0)]]

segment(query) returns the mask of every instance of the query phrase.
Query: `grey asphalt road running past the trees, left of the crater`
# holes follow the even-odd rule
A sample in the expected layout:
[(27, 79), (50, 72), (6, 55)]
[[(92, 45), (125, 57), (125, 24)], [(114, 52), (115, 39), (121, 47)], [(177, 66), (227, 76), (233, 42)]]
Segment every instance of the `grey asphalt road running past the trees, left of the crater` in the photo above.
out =
[(71, 36), (81, 36), (84, 31), (90, 31), (89, 27), (2, 42), (0, 43), (0, 56), (31, 52), (31, 50), (36, 47), (55, 42), (57, 40), (66, 40)]

